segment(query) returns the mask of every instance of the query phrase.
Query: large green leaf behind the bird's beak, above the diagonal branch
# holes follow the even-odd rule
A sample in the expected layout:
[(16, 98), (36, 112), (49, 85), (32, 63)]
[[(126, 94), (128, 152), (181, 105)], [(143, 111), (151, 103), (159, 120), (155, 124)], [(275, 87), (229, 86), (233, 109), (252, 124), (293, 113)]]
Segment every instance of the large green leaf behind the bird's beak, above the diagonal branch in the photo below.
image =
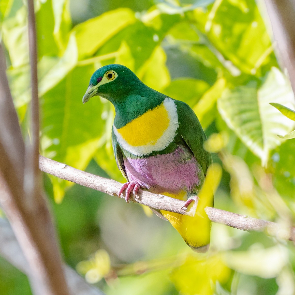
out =
[[(104, 134), (103, 104), (99, 97), (82, 104), (94, 70), (92, 65), (74, 68), (40, 99), (42, 155), (82, 170), (101, 145)], [(60, 201), (64, 189), (72, 183), (55, 178), (53, 185)]]

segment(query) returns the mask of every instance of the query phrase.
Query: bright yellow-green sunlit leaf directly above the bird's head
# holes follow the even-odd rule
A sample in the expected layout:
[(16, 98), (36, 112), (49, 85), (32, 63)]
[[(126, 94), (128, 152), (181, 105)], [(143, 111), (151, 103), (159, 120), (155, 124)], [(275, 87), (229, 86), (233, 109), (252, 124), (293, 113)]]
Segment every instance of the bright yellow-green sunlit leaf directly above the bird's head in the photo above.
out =
[(79, 59), (92, 56), (106, 41), (135, 21), (131, 9), (119, 8), (78, 24), (73, 32), (76, 33)]

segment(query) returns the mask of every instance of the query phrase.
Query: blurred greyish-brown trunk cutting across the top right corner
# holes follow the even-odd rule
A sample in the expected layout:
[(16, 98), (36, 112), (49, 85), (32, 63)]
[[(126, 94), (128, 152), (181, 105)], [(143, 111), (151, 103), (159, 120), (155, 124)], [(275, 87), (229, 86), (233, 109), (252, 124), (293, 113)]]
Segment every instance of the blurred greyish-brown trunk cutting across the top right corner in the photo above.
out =
[(287, 68), (295, 93), (295, 1), (265, 0), (279, 59)]

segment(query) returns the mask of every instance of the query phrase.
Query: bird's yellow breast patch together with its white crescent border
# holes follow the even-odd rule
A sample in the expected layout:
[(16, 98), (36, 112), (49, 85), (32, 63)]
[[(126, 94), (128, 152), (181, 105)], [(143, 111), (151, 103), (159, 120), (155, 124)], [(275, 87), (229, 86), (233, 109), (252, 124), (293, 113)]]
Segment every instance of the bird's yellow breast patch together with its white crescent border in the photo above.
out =
[(142, 156), (165, 149), (173, 141), (178, 126), (176, 104), (167, 97), (162, 104), (125, 126), (117, 129), (113, 125), (113, 130), (125, 150)]

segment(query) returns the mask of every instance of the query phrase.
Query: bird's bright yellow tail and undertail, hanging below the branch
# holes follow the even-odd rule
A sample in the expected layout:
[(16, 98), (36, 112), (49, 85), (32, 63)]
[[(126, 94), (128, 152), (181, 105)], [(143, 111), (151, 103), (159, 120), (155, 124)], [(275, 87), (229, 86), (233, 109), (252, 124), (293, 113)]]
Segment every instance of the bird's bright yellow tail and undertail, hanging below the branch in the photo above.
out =
[[(183, 199), (186, 196), (186, 192), (181, 192), (178, 195), (164, 194), (176, 199)], [(208, 200), (198, 200), (194, 217), (161, 211), (163, 216), (168, 219), (172, 226), (180, 233), (183, 240), (191, 247), (191, 249), (202, 253), (207, 252), (210, 243), (211, 221), (204, 208), (206, 206), (212, 206), (212, 204), (207, 203)], [(194, 202), (189, 205), (188, 209), (190, 209), (191, 206), (194, 206)]]

